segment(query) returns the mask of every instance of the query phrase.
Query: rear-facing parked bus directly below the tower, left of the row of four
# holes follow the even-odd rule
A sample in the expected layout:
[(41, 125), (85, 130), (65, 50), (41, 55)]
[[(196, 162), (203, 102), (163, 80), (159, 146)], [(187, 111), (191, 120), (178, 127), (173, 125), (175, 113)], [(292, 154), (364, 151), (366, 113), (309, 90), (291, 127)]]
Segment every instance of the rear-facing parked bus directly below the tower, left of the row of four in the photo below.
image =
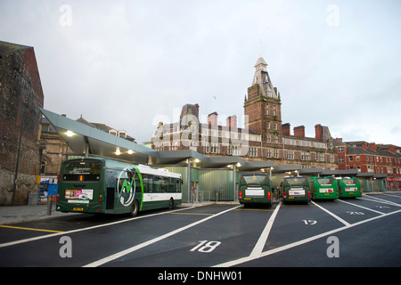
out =
[(242, 175), (239, 191), (240, 203), (244, 205), (272, 205), (272, 181), (266, 175)]

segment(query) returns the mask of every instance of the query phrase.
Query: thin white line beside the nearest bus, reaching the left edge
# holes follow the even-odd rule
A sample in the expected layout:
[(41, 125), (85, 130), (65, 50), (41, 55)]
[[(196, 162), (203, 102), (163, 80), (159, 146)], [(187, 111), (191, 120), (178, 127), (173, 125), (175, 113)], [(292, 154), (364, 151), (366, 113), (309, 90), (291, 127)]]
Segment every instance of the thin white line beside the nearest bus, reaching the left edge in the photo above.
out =
[[(191, 208), (194, 208), (194, 207), (191, 207)], [(34, 241), (34, 240), (43, 240), (43, 239), (53, 238), (53, 237), (56, 237), (56, 236), (59, 236), (59, 235), (69, 235), (70, 233), (94, 230), (94, 229), (97, 229), (97, 228), (102, 228), (103, 226), (109, 226), (109, 225), (113, 225), (113, 224), (122, 224), (122, 223), (130, 222), (130, 221), (133, 221), (133, 220), (143, 219), (143, 218), (146, 218), (146, 217), (159, 216), (159, 215), (169, 214), (169, 213), (173, 213), (173, 212), (184, 211), (184, 210), (188, 210), (188, 209), (190, 209), (190, 208), (180, 208), (180, 209), (173, 210), (173, 211), (162, 212), (162, 213), (157, 213), (157, 214), (152, 214), (152, 215), (147, 215), (147, 216), (136, 216), (136, 217), (133, 217), (133, 218), (130, 218), (130, 219), (127, 219), (127, 220), (112, 222), (112, 223), (109, 223), (109, 224), (99, 224), (99, 225), (89, 226), (87, 228), (71, 230), (71, 231), (68, 231), (68, 232), (51, 233), (51, 234), (37, 236), (35, 238), (29, 238), (29, 239), (25, 239), (25, 240), (14, 240), (14, 241), (10, 241), (10, 242), (1, 243), (0, 244), (0, 248), (10, 247), (10, 246), (13, 246), (13, 245), (16, 245), (16, 244), (29, 242), (29, 241)]]

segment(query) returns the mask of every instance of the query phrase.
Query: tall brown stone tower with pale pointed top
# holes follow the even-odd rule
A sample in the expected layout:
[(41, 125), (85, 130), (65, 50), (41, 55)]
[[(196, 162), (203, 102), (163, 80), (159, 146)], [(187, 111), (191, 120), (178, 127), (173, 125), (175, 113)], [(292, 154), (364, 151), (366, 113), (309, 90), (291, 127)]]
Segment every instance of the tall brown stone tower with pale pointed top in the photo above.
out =
[(247, 127), (262, 134), (263, 142), (282, 143), (282, 102), (273, 86), (262, 56), (255, 64), (255, 75), (245, 96), (244, 112)]

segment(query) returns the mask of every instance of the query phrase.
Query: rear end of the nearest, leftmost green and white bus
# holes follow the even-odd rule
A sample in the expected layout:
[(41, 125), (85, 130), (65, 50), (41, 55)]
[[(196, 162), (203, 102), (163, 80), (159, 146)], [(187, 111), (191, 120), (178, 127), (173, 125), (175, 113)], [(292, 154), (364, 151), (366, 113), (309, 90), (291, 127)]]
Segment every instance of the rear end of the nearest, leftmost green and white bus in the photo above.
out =
[(102, 213), (104, 160), (70, 159), (61, 164), (56, 210)]

